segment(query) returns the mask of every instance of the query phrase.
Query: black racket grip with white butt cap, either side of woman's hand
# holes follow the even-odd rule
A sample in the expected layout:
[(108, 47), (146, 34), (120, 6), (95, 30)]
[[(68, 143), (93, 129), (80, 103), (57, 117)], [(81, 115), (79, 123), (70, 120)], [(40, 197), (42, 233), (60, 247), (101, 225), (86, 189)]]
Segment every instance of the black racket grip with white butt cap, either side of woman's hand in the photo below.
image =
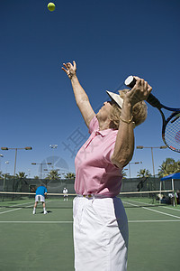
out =
[[(124, 84), (130, 89), (132, 89), (136, 84), (136, 79), (132, 75), (130, 75), (127, 79), (125, 79)], [(156, 107), (159, 109), (162, 108), (162, 105), (159, 102), (159, 100), (151, 93), (148, 95), (147, 101), (148, 104), (151, 105), (152, 107)]]

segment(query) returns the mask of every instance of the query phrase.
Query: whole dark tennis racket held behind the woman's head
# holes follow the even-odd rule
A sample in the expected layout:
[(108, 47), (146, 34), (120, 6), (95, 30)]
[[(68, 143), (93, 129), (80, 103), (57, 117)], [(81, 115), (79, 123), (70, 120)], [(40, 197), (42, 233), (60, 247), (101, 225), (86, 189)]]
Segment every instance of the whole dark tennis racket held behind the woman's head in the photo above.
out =
[[(130, 89), (134, 87), (135, 83), (136, 79), (131, 75), (124, 81), (124, 84)], [(180, 153), (180, 108), (171, 108), (162, 105), (151, 93), (148, 95), (147, 101), (149, 105), (156, 107), (161, 114), (163, 120), (162, 138), (164, 143), (170, 150)], [(165, 118), (161, 110), (162, 108), (173, 113)]]

